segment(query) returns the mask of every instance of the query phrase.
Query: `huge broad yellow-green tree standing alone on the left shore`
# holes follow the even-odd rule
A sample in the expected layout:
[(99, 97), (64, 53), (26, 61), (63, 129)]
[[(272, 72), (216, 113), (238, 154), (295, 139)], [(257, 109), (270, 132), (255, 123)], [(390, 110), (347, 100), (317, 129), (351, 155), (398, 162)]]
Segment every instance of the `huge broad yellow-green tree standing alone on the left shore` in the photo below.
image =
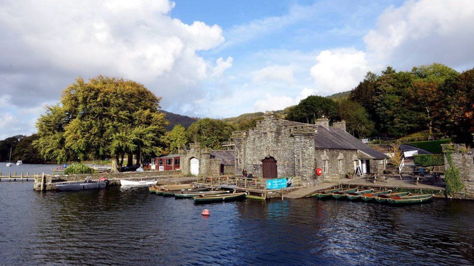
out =
[(37, 122), (34, 144), (47, 160), (151, 155), (161, 145), (168, 121), (159, 112), (161, 98), (132, 80), (99, 76), (77, 78), (60, 104), (47, 106)]

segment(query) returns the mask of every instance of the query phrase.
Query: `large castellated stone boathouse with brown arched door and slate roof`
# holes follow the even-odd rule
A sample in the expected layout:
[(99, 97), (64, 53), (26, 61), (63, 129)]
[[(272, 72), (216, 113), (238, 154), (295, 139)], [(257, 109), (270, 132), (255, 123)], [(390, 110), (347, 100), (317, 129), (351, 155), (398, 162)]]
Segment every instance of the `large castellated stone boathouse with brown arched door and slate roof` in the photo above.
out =
[[(346, 132), (345, 122), (329, 126), (327, 119), (315, 125), (287, 121), (267, 112), (256, 127), (232, 133), (235, 171), (242, 169), (263, 178), (300, 176), (310, 183), (384, 170), (387, 156)], [(322, 169), (322, 175), (316, 170)]]

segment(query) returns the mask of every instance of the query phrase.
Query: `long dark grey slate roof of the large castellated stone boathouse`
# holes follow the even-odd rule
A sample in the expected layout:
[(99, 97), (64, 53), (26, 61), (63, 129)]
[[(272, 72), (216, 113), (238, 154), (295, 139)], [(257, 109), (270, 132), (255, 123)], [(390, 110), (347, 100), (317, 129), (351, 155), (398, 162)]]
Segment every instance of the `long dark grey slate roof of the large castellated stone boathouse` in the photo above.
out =
[(325, 128), (318, 125), (318, 134), (314, 136), (314, 144), (317, 149), (359, 150), (374, 159), (387, 158), (385, 154), (337, 127)]

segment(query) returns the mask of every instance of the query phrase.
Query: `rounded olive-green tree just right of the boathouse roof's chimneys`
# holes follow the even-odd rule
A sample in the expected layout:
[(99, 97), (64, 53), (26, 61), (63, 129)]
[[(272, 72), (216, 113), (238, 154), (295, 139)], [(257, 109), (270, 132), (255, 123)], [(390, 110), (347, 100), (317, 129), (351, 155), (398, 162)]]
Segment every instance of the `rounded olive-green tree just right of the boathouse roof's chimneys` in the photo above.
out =
[(355, 137), (370, 136), (373, 122), (362, 105), (349, 99), (339, 100), (339, 117), (346, 122), (346, 130)]

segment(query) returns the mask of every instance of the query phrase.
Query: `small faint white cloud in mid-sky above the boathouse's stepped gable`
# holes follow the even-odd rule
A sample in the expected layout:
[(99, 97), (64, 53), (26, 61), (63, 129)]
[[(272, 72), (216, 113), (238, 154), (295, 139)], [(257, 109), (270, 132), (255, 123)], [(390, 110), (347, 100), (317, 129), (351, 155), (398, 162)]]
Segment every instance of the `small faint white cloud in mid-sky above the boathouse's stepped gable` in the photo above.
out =
[(255, 71), (254, 82), (286, 82), (292, 83), (294, 81), (293, 77), (294, 67), (291, 65), (270, 65), (266, 66), (260, 70)]

